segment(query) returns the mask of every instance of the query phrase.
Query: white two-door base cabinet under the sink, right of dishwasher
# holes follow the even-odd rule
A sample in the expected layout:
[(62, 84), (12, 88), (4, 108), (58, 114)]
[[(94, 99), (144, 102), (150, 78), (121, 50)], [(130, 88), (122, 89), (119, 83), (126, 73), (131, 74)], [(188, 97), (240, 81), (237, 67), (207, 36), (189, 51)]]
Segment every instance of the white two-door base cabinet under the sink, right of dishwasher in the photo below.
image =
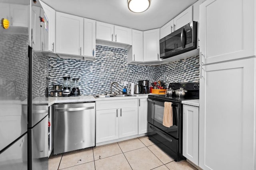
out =
[(96, 101), (96, 143), (138, 135), (138, 100)]

